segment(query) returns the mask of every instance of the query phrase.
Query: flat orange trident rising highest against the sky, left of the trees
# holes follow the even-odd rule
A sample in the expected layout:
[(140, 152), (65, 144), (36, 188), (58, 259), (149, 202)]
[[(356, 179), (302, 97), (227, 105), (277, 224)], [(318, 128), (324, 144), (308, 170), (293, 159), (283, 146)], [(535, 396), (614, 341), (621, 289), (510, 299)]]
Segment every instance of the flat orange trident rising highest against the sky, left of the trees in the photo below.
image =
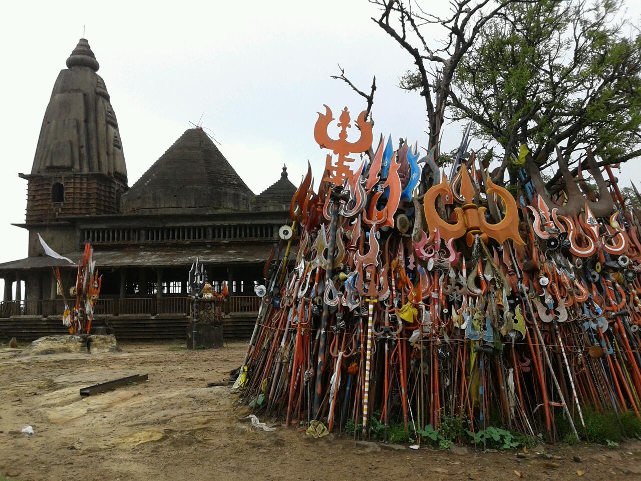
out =
[(325, 176), (322, 181), (333, 185), (343, 185), (345, 180), (349, 181), (354, 176), (354, 172), (349, 165), (354, 162), (354, 159), (349, 158), (348, 155), (363, 153), (372, 145), (372, 122), (365, 121), (367, 112), (363, 110), (363, 112), (358, 115), (358, 120), (356, 121), (356, 125), (360, 129), (360, 138), (355, 142), (348, 142), (347, 129), (351, 128), (351, 118), (349, 117), (347, 107), (345, 107), (338, 118), (338, 126), (340, 127), (338, 139), (332, 139), (329, 137), (327, 129), (329, 123), (333, 121), (334, 118), (329, 107), (327, 105), (324, 107), (326, 110), (325, 114), (317, 112), (319, 119), (314, 126), (314, 139), (320, 148), (331, 149), (337, 154), (338, 160), (336, 164), (334, 164), (331, 154), (327, 155)]

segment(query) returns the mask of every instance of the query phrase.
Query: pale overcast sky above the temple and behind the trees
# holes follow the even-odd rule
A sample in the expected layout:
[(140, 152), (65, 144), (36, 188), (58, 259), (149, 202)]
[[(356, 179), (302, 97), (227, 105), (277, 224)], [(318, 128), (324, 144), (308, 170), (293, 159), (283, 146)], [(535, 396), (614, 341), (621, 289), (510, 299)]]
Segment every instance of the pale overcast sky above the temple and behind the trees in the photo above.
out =
[[(641, 8), (628, 4), (638, 19)], [(448, 2), (429, 8), (445, 13)], [(313, 126), (324, 103), (335, 114), (348, 106), (353, 117), (365, 107), (329, 78), (337, 63), (362, 89), (376, 74), (375, 139), (382, 133), (427, 144), (422, 99), (397, 87), (412, 59), (370, 19), (377, 14), (365, 0), (5, 5), (0, 262), (27, 255), (26, 230), (10, 225), (24, 222), (26, 208), (26, 181), (17, 174), (31, 170), (51, 89), (83, 26), (118, 119), (129, 185), (203, 114), (203, 127), (258, 194), (283, 164), (296, 185), (307, 160), (322, 168)], [(458, 126), (445, 128), (442, 150), (459, 140)]]

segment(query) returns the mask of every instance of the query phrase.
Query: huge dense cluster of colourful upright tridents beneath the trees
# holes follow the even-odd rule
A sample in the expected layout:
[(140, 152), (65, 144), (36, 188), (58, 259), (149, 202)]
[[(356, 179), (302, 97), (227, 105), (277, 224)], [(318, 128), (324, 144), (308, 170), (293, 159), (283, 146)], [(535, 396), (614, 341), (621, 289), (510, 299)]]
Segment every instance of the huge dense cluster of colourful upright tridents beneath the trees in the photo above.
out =
[(465, 160), (469, 130), (448, 178), (433, 150), (419, 160), (382, 140), (352, 169), (372, 124), (360, 114), (349, 142), (347, 108), (338, 139), (331, 121), (326, 106), (315, 139), (338, 158), (318, 192), (308, 170), (284, 255), (268, 262), (237, 382), (247, 403), (363, 435), (374, 418), (414, 436), (459, 416), (472, 432), (492, 417), (555, 439), (555, 419), (577, 435), (587, 407), (638, 416), (641, 242), (609, 167), (606, 183), (588, 156), (600, 199), (583, 185), (586, 198), (559, 155), (565, 190), (553, 199), (519, 156), (515, 199), (473, 152)]

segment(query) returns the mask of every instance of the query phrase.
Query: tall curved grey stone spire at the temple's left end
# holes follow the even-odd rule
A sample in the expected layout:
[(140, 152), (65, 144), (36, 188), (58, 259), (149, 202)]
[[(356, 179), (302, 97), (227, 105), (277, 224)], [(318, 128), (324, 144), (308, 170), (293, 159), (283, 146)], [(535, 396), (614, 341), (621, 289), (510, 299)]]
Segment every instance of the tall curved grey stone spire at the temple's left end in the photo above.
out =
[(27, 222), (115, 214), (127, 190), (118, 122), (85, 38), (58, 74), (42, 119), (29, 181)]

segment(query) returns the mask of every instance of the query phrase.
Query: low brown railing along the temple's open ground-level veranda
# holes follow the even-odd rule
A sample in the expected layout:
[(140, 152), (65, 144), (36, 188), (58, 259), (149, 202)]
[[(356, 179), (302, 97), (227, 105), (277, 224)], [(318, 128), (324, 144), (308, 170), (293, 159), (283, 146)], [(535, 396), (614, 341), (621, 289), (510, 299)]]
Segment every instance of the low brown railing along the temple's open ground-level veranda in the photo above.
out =
[[(72, 308), (71, 300), (69, 308)], [(258, 296), (231, 296), (229, 297), (229, 312), (256, 312), (260, 307)], [(126, 314), (181, 314), (188, 316), (192, 305), (188, 298), (104, 298), (96, 301), (94, 314), (96, 316), (120, 316)], [(0, 317), (11, 316), (62, 316), (65, 303), (57, 300), (23, 300), (0, 301)]]

